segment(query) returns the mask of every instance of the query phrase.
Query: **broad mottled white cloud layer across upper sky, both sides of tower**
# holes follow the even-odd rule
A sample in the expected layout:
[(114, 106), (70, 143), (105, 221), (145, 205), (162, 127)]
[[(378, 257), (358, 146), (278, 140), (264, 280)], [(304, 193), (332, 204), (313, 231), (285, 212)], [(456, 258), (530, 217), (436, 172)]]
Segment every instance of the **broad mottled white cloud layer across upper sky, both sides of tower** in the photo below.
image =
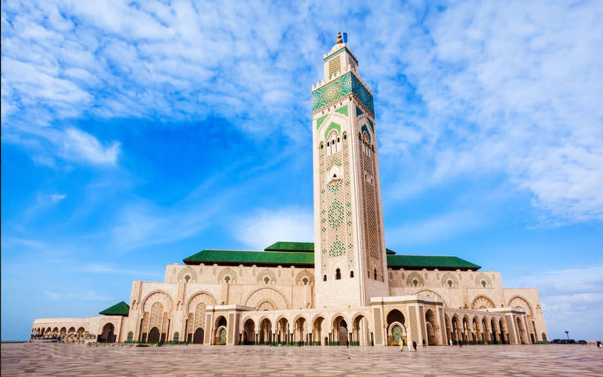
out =
[(545, 224), (601, 221), (602, 17), (602, 2), (7, 2), (3, 141), (71, 142), (45, 152), (111, 165), (116, 142), (31, 128), (221, 116), (307, 139), (300, 114), (340, 19), (376, 95), (382, 156), (403, 163), (397, 197), (503, 173)]

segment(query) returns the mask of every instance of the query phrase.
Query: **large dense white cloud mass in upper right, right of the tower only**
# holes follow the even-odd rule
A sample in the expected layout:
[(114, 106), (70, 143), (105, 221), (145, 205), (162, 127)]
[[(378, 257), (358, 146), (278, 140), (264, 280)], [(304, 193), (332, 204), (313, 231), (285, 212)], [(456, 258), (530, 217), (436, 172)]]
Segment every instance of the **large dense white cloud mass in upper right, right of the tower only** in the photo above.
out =
[[(602, 221), (602, 16), (600, 2), (461, 2), (430, 11), (409, 28), (410, 40), (390, 37), (403, 48), (371, 69), (399, 67), (374, 73), (385, 108), (382, 153), (415, 161), (403, 179), (418, 179), (400, 197), (502, 172), (532, 194), (546, 224)], [(396, 22), (371, 17), (379, 17), (376, 33)], [(419, 106), (396, 106), (406, 93), (388, 81), (400, 73)]]

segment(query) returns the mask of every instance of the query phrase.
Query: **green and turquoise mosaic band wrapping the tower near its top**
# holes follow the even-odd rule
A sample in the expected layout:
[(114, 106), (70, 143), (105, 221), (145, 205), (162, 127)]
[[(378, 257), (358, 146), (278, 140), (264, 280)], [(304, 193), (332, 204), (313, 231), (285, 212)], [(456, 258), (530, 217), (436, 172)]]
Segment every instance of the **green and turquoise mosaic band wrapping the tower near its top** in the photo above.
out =
[(330, 83), (312, 92), (312, 111), (316, 111), (335, 102), (339, 98), (353, 93), (371, 114), (374, 114), (373, 95), (362, 85), (352, 72), (336, 78)]

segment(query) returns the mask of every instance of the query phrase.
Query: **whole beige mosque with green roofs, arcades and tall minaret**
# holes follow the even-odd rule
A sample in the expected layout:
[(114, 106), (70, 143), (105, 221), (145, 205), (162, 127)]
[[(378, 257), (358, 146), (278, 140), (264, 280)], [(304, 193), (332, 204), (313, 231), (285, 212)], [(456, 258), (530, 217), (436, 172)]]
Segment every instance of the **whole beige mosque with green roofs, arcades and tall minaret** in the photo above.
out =
[[(72, 342), (390, 346), (547, 340), (535, 288), (456, 256), (385, 247), (373, 93), (341, 34), (312, 86), (314, 243), (203, 250), (134, 281), (129, 302), (89, 318), (40, 318)], [(407, 343), (408, 344), (408, 343)]]

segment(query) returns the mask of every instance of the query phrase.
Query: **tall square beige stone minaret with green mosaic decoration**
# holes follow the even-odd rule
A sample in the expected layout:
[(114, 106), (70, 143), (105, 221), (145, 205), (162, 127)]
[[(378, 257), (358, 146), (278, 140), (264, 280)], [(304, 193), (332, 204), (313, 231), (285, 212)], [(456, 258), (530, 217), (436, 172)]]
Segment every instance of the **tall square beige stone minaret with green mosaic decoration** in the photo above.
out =
[(373, 93), (338, 34), (312, 86), (316, 307), (389, 296)]

